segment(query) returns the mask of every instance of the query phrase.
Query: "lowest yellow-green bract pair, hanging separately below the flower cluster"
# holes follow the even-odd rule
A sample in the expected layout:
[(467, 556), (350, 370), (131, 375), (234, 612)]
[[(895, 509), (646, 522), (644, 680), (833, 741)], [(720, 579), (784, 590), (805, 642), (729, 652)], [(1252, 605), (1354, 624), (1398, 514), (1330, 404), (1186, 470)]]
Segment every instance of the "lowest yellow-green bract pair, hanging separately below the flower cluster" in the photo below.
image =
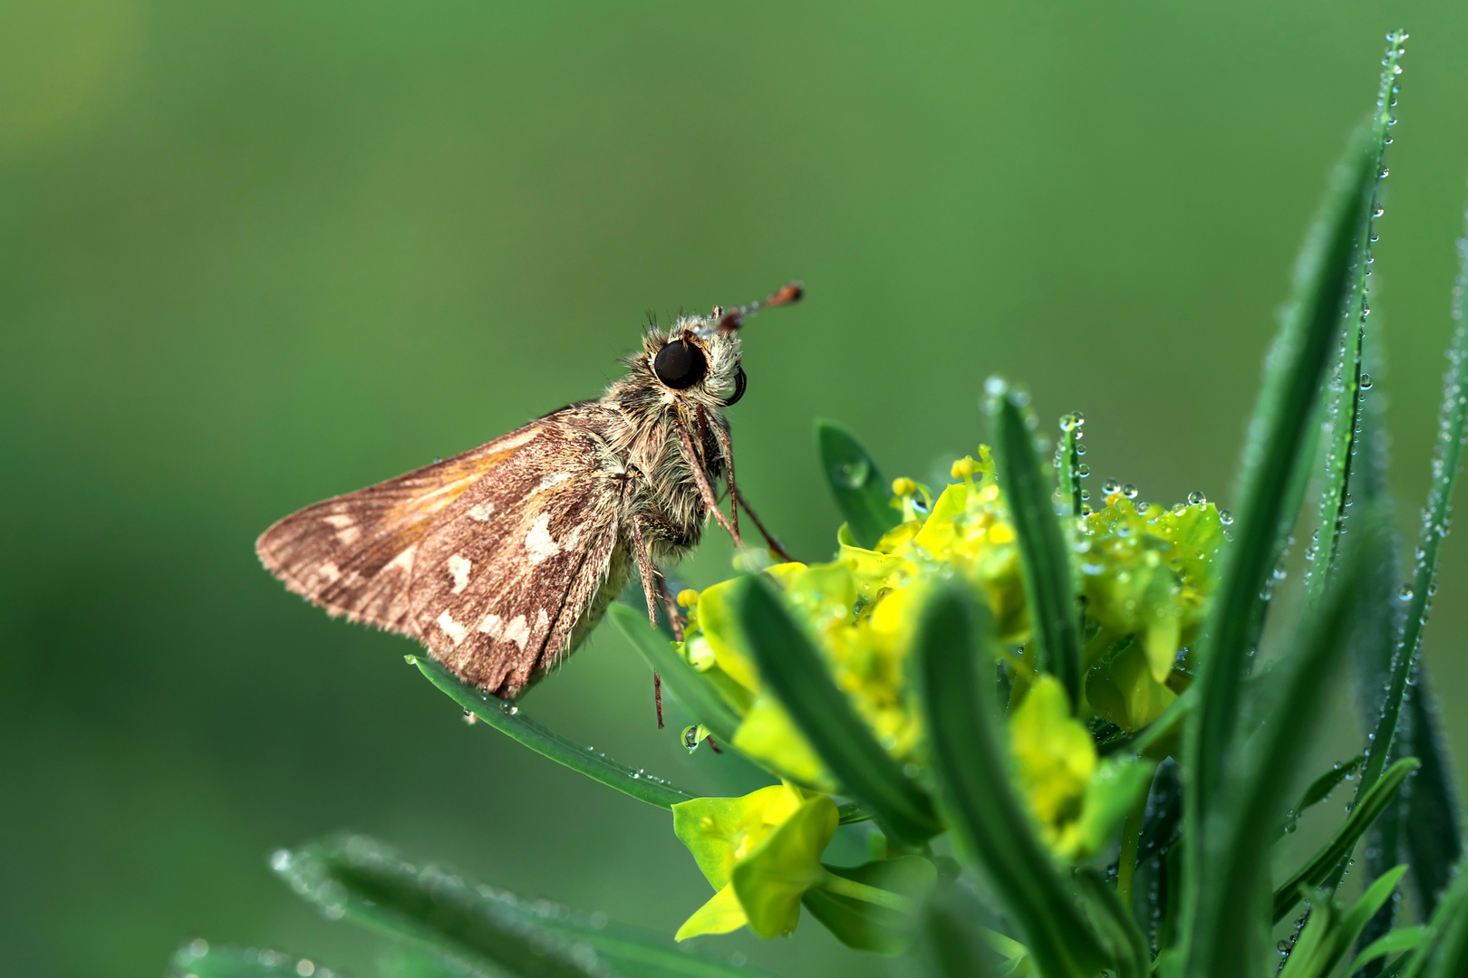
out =
[(822, 878), (821, 853), (835, 834), (835, 804), (775, 784), (743, 798), (699, 798), (672, 806), (674, 833), (716, 893), (677, 940), (750, 924), (762, 937), (788, 934), (800, 896)]

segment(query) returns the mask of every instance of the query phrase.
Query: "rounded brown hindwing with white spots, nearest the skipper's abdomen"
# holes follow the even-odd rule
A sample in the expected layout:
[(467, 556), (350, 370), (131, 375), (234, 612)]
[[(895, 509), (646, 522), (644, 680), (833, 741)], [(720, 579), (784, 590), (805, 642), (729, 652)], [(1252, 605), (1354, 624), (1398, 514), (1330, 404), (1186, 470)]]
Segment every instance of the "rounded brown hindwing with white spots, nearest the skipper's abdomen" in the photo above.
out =
[[(570, 651), (612, 569), (625, 482), (603, 466), (595, 408), (536, 437), (459, 496), (418, 547), (418, 636), (459, 679), (512, 698)], [(617, 582), (614, 582), (615, 587)]]

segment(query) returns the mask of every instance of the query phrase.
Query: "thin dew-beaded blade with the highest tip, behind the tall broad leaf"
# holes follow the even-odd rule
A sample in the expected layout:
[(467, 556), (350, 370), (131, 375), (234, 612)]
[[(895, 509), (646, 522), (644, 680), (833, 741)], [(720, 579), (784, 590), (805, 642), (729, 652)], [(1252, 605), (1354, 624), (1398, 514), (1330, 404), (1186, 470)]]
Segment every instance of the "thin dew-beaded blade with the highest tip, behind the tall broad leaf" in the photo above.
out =
[[(1386, 176), (1381, 166), (1386, 155), (1389, 132), (1396, 122), (1392, 107), (1396, 104), (1398, 78), (1402, 73), (1402, 50), (1406, 34), (1393, 31), (1387, 35), (1390, 47), (1381, 59), (1381, 85), (1377, 91), (1377, 107), (1371, 116), (1367, 139), (1376, 150), (1376, 186)], [(1373, 188), (1376, 196), (1376, 188)], [(1367, 274), (1371, 264), (1371, 242), (1376, 240), (1373, 221), (1381, 208), (1373, 205), (1352, 246), (1349, 296), (1345, 308), (1345, 339), (1334, 377), (1329, 384), (1324, 403), (1324, 479), (1320, 496), (1318, 519), (1307, 554), (1312, 557), (1305, 578), (1307, 607), (1314, 607), (1326, 587), (1326, 578), (1340, 547), (1340, 534), (1346, 522), (1346, 507), (1351, 500), (1352, 465), (1356, 456), (1356, 433), (1361, 431), (1361, 353), (1365, 342), (1365, 323), (1371, 314), (1367, 305)]]

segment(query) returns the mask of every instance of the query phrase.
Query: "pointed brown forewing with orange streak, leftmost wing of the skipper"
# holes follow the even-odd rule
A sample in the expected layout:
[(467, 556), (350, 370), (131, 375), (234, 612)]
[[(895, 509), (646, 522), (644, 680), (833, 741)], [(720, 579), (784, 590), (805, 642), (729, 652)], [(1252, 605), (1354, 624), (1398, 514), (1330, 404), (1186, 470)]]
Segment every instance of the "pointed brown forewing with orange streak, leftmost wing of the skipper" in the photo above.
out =
[(332, 614), (417, 635), (408, 582), (417, 551), (445, 509), (514, 459), (542, 431), (533, 422), (462, 455), (292, 513), (255, 541), (261, 563)]

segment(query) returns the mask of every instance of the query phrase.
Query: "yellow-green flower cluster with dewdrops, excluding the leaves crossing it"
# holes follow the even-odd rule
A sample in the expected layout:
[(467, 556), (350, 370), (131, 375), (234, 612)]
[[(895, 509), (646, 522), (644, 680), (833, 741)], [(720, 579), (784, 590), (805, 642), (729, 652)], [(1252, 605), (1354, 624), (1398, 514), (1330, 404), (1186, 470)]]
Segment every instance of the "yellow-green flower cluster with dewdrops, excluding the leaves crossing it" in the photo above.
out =
[[(1101, 761), (1060, 683), (1035, 674), (1025, 651), (1031, 620), (1019, 540), (988, 449), (954, 462), (951, 475), (937, 500), (912, 479), (897, 479), (894, 506), (903, 519), (875, 547), (856, 545), (843, 526), (835, 560), (777, 565), (766, 573), (780, 584), (837, 686), (882, 748), (913, 774), (923, 762), (923, 732), (906, 660), (929, 585), (967, 582), (992, 613), (997, 647), (1013, 677), (1009, 740), (1016, 793), (1058, 858), (1088, 858), (1145, 790), (1151, 765)], [(1089, 711), (1135, 730), (1188, 682), (1177, 666), (1207, 611), (1223, 522), (1196, 496), (1163, 509), (1139, 507), (1116, 491), (1095, 512), (1061, 523), (1085, 609)], [(724, 582), (678, 595), (688, 609), (678, 648), (740, 716), (734, 746), (787, 783), (743, 799), (678, 806), (678, 837), (716, 890), (680, 937), (746, 922), (766, 935), (788, 933), (799, 919), (800, 893), (821, 877), (819, 853), (835, 830), (835, 808), (821, 792), (838, 786), (763, 688), (733, 592), (734, 582)], [(697, 729), (694, 736), (703, 733)], [(738, 868), (746, 865), (752, 868)]]

